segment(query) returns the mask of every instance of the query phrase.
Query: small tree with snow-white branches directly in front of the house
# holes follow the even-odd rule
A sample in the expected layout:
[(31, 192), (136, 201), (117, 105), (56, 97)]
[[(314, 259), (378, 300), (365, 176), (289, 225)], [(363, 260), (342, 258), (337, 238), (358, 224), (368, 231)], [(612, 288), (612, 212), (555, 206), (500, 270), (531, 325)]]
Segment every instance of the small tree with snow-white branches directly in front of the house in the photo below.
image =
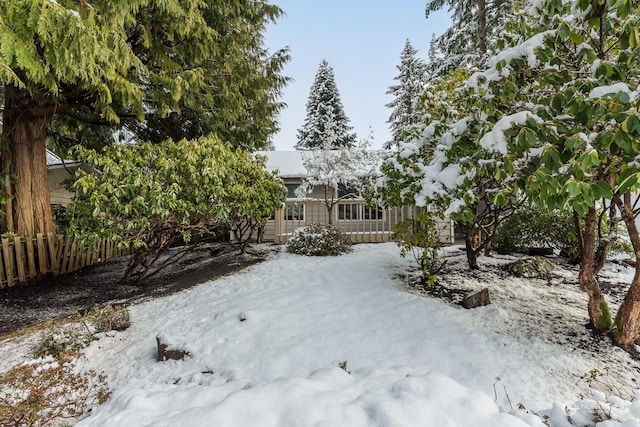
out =
[[(296, 189), (296, 196), (305, 198), (317, 187), (323, 189), (323, 197), (316, 200), (327, 208), (329, 224), (333, 223), (333, 208), (343, 199), (363, 196), (379, 175), (380, 153), (370, 150), (369, 140), (357, 146), (336, 149), (336, 122), (329, 112), (326, 138), (322, 146), (303, 155), (306, 175)], [(345, 189), (340, 194), (340, 189)]]

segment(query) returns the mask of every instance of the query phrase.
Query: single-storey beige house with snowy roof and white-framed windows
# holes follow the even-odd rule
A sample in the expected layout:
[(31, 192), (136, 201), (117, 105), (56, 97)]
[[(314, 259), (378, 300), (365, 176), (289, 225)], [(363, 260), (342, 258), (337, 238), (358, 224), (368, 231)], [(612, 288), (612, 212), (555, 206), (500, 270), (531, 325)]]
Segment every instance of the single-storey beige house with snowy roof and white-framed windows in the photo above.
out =
[[(278, 209), (265, 227), (264, 241), (285, 243), (296, 228), (314, 222), (329, 223), (329, 214), (324, 204), (324, 188), (316, 187), (305, 198), (296, 197), (295, 190), (307, 175), (304, 166), (304, 151), (261, 151), (266, 157), (269, 171), (278, 170), (288, 190), (282, 209)], [(335, 196), (344, 194), (336, 191)], [(397, 223), (411, 218), (414, 207), (382, 208), (369, 206), (362, 197), (340, 200), (332, 210), (331, 223), (346, 233), (354, 243), (374, 243), (389, 241), (391, 230)], [(453, 243), (453, 224), (443, 220), (438, 224), (440, 241)]]

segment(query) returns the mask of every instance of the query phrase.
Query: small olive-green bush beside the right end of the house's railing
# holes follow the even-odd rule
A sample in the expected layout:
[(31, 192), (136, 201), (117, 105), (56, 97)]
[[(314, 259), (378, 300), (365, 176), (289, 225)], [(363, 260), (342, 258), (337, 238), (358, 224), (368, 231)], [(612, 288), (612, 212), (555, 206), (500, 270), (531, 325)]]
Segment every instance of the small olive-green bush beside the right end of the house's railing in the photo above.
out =
[(391, 238), (398, 242), (400, 255), (411, 254), (418, 263), (425, 283), (432, 285), (444, 263), (438, 259), (440, 243), (436, 218), (426, 210), (393, 227)]

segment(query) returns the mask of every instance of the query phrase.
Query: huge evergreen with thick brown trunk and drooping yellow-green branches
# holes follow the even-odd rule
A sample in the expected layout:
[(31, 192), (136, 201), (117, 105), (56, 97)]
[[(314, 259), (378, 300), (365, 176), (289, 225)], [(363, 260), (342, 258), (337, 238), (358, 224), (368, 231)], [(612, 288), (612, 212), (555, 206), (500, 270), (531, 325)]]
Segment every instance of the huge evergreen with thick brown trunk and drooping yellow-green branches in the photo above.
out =
[[(0, 2), (3, 229), (26, 236), (54, 229), (48, 130), (64, 130), (57, 142), (68, 145), (94, 125), (189, 109), (190, 120), (207, 124), (203, 131), (216, 123), (253, 133), (246, 123), (254, 114), (270, 117), (253, 122), (268, 129), (263, 135), (275, 130), (283, 81), (277, 59), (269, 71), (260, 68), (268, 64), (260, 34), (265, 20), (280, 13), (264, 1), (241, 0)], [(255, 78), (255, 69), (247, 71), (256, 63), (265, 80)], [(216, 104), (219, 99), (224, 101)], [(245, 99), (259, 102), (243, 104)], [(242, 138), (249, 139), (246, 132)]]

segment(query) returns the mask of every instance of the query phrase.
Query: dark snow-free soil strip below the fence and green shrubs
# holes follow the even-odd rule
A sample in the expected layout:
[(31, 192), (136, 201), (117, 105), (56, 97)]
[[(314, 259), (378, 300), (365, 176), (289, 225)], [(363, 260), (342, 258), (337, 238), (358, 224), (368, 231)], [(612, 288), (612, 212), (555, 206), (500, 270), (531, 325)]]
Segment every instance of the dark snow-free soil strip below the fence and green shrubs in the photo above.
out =
[(127, 263), (127, 257), (122, 257), (74, 273), (0, 289), (0, 336), (95, 306), (127, 305), (179, 292), (264, 261), (278, 248), (259, 245), (240, 254), (226, 243), (208, 244), (138, 286), (120, 283)]

